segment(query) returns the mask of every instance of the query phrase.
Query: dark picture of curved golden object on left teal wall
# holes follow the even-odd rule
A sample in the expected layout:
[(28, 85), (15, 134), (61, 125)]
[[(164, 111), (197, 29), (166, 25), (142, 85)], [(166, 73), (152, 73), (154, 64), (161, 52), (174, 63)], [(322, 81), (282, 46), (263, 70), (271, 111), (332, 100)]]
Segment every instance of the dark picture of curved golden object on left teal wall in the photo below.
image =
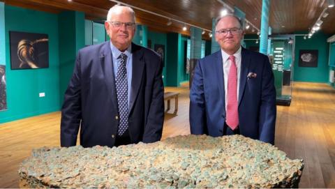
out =
[(10, 31), (10, 68), (49, 68), (47, 34)]

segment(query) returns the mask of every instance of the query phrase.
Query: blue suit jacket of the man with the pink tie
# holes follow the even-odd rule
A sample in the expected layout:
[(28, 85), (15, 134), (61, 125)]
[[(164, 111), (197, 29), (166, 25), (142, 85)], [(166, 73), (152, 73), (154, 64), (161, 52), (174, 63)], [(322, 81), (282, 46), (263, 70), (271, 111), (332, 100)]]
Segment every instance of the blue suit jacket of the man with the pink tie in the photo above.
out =
[[(256, 77), (247, 78), (248, 73)], [(241, 50), (239, 130), (241, 135), (274, 144), (276, 89), (267, 56)], [(200, 59), (190, 91), (191, 134), (223, 135), (225, 87), (221, 50)]]

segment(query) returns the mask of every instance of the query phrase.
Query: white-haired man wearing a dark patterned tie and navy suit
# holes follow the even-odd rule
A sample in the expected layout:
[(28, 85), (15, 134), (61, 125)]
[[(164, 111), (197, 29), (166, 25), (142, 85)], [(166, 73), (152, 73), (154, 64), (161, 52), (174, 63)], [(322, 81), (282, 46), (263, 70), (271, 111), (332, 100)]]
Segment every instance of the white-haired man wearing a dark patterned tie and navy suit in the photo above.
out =
[(61, 109), (61, 146), (119, 146), (161, 139), (163, 64), (155, 52), (131, 43), (135, 13), (110, 8), (110, 41), (79, 51)]

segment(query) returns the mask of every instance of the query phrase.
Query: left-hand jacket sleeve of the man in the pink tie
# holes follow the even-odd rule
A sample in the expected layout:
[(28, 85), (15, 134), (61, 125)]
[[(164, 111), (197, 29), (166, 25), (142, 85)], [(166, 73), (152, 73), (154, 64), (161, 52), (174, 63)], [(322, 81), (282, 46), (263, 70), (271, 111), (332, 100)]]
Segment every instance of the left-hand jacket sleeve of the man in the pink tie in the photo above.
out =
[(190, 90), (190, 128), (193, 135), (207, 134), (204, 79), (200, 61), (195, 66)]

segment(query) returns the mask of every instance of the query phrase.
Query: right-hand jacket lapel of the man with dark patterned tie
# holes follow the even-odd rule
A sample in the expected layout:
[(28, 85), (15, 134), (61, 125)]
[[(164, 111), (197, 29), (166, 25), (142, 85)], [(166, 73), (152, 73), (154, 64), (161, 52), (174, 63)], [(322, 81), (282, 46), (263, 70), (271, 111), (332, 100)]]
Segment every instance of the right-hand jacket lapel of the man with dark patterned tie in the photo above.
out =
[(133, 54), (133, 73), (131, 79), (131, 99), (129, 102), (129, 112), (131, 112), (131, 109), (133, 109), (136, 97), (140, 90), (144, 71), (142, 47), (132, 43), (131, 53)]

